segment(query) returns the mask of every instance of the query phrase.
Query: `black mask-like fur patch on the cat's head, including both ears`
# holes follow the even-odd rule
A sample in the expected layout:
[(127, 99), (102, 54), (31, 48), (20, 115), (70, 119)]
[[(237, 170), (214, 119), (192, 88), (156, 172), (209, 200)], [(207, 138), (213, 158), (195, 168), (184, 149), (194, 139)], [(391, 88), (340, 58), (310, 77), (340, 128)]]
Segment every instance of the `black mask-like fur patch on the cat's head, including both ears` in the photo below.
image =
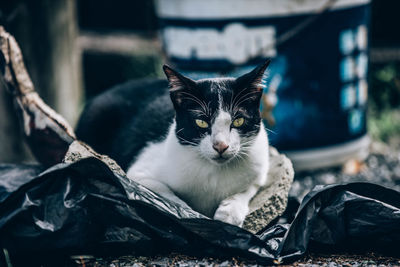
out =
[[(237, 78), (194, 81), (164, 65), (170, 84), (170, 96), (176, 111), (176, 136), (182, 145), (196, 146), (204, 135), (211, 134), (218, 110), (229, 112), (232, 121), (244, 118), (237, 128), (241, 136), (256, 135), (260, 129), (260, 99), (262, 79), (269, 60), (253, 71)], [(208, 123), (208, 128), (196, 125), (196, 119)]]

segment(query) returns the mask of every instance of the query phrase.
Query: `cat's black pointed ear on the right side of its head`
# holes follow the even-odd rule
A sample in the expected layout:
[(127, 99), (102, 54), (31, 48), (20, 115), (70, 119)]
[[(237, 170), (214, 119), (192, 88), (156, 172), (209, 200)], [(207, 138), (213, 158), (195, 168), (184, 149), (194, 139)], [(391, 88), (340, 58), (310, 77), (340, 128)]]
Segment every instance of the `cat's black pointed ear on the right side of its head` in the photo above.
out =
[(236, 83), (238, 85), (238, 89), (247, 88), (247, 90), (254, 92), (263, 92), (263, 78), (265, 75), (265, 70), (271, 63), (271, 60), (268, 59), (264, 63), (258, 65), (254, 70), (249, 73), (244, 74), (236, 79)]

